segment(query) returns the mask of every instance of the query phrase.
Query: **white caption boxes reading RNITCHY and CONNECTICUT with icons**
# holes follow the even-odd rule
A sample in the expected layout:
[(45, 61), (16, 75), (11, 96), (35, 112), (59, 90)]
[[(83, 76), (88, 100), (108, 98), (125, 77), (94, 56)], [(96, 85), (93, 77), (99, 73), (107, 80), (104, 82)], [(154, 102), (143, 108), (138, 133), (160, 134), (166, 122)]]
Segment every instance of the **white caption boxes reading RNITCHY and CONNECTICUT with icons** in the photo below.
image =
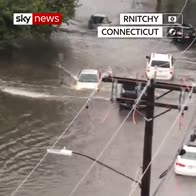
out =
[(120, 25), (98, 26), (97, 35), (99, 38), (180, 38), (175, 27), (182, 31), (181, 24), (182, 13), (122, 13)]

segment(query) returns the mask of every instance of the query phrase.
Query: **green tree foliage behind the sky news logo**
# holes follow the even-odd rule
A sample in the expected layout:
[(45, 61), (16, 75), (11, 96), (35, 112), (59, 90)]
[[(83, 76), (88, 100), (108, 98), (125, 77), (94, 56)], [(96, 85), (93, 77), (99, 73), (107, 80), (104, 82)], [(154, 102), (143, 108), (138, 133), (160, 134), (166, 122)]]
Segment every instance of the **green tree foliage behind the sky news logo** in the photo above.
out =
[(66, 22), (74, 16), (78, 0), (0, 0), (0, 43), (15, 39), (49, 38), (51, 26), (14, 26), (13, 13), (60, 12)]

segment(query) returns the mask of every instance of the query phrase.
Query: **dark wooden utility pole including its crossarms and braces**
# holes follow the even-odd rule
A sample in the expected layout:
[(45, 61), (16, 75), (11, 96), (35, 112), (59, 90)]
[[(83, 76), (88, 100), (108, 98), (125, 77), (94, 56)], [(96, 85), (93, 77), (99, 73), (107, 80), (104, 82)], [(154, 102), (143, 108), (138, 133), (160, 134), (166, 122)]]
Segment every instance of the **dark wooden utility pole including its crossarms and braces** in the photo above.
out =
[[(134, 79), (134, 78), (124, 78), (117, 76), (109, 76), (107, 78), (103, 78), (103, 82), (111, 82), (111, 83), (120, 83), (120, 84), (138, 84), (141, 83), (143, 85), (147, 84), (147, 80)], [(112, 87), (113, 88), (113, 87)], [(145, 122), (145, 133), (144, 133), (144, 149), (143, 149), (143, 177), (141, 179), (141, 196), (150, 196), (150, 178), (151, 178), (151, 158), (152, 158), (152, 140), (153, 140), (153, 121), (155, 118), (169, 112), (172, 109), (179, 110), (181, 108), (181, 101), (177, 105), (169, 104), (169, 103), (160, 103), (157, 102), (160, 98), (166, 96), (172, 91), (180, 92), (179, 99), (181, 99), (181, 95), (183, 93), (189, 92), (193, 86), (190, 85), (180, 85), (180, 84), (171, 84), (165, 82), (154, 82), (151, 80), (150, 85), (147, 87), (146, 98), (141, 99), (140, 103), (145, 105), (146, 109), (146, 122)], [(155, 89), (163, 89), (167, 90), (162, 93), (160, 96), (155, 99)], [(196, 93), (196, 89), (193, 89), (192, 93)], [(184, 94), (185, 95), (185, 94)], [(156, 100), (156, 101), (155, 101)], [(117, 102), (126, 101), (131, 104), (135, 104), (135, 99), (117, 97)], [(167, 108), (167, 110), (157, 114), (154, 116), (154, 107)], [(188, 107), (185, 106), (183, 110), (188, 110)], [(196, 134), (195, 134), (196, 135)], [(192, 136), (193, 137), (193, 136)], [(196, 136), (195, 136), (196, 138)], [(193, 139), (193, 138), (192, 138)]]

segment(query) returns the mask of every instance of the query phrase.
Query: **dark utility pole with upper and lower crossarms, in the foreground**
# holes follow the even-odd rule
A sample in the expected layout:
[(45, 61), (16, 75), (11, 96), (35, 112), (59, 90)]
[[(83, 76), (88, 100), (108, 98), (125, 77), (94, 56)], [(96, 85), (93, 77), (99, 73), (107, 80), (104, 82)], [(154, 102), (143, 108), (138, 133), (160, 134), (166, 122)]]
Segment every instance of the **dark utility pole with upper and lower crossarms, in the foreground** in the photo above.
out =
[[(146, 84), (146, 80), (138, 80), (138, 79), (132, 79), (132, 78), (121, 78), (121, 77), (113, 77), (111, 79), (111, 77), (108, 77), (106, 79), (103, 80), (104, 82), (117, 82), (117, 83), (121, 83), (121, 84)], [(158, 107), (164, 107), (164, 108), (169, 108), (169, 111), (171, 109), (177, 109), (179, 110), (182, 106), (182, 104), (184, 103), (179, 103), (180, 105), (171, 105), (171, 104), (164, 104), (164, 103), (159, 103), (159, 102), (155, 102), (154, 101), (154, 88), (159, 88), (159, 89), (168, 89), (169, 91), (167, 91), (166, 93), (163, 93), (162, 95), (160, 95), (159, 97), (156, 98), (159, 99), (160, 97), (168, 94), (171, 91), (180, 91), (180, 92), (190, 92), (190, 89), (192, 88), (192, 86), (189, 85), (179, 85), (179, 84), (170, 84), (170, 83), (164, 83), (164, 82), (156, 82), (153, 85), (149, 86), (148, 91), (146, 92), (146, 99), (145, 100), (141, 100), (144, 105), (146, 105), (146, 126), (145, 126), (145, 137), (144, 137), (144, 156), (143, 156), (143, 173), (144, 171), (146, 172), (146, 168), (147, 166), (148, 168), (148, 173), (146, 172), (145, 177), (142, 178), (142, 195), (143, 196), (147, 196), (149, 195), (149, 186), (150, 186), (150, 166), (149, 163), (151, 162), (151, 144), (152, 144), (152, 135), (153, 135), (153, 119), (155, 119), (157, 116), (160, 116), (165, 112), (162, 112), (159, 115), (154, 116), (154, 114), (152, 113), (152, 111), (154, 110), (155, 106)], [(194, 93), (196, 93), (195, 89), (194, 89)], [(121, 102), (121, 98), (117, 98), (117, 101)], [(183, 100), (185, 101), (185, 99)], [(134, 101), (130, 100), (130, 103), (134, 103)], [(179, 107), (180, 106), (180, 107)], [(185, 106), (183, 108), (183, 111), (187, 110), (188, 108)]]

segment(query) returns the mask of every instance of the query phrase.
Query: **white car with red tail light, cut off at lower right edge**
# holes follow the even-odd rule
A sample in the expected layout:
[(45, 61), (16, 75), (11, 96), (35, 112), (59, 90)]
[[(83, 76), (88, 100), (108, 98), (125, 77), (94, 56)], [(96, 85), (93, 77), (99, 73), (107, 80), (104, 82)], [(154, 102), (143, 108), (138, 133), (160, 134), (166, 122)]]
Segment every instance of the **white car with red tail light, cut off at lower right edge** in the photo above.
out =
[(196, 176), (196, 145), (184, 145), (174, 165), (178, 175)]

